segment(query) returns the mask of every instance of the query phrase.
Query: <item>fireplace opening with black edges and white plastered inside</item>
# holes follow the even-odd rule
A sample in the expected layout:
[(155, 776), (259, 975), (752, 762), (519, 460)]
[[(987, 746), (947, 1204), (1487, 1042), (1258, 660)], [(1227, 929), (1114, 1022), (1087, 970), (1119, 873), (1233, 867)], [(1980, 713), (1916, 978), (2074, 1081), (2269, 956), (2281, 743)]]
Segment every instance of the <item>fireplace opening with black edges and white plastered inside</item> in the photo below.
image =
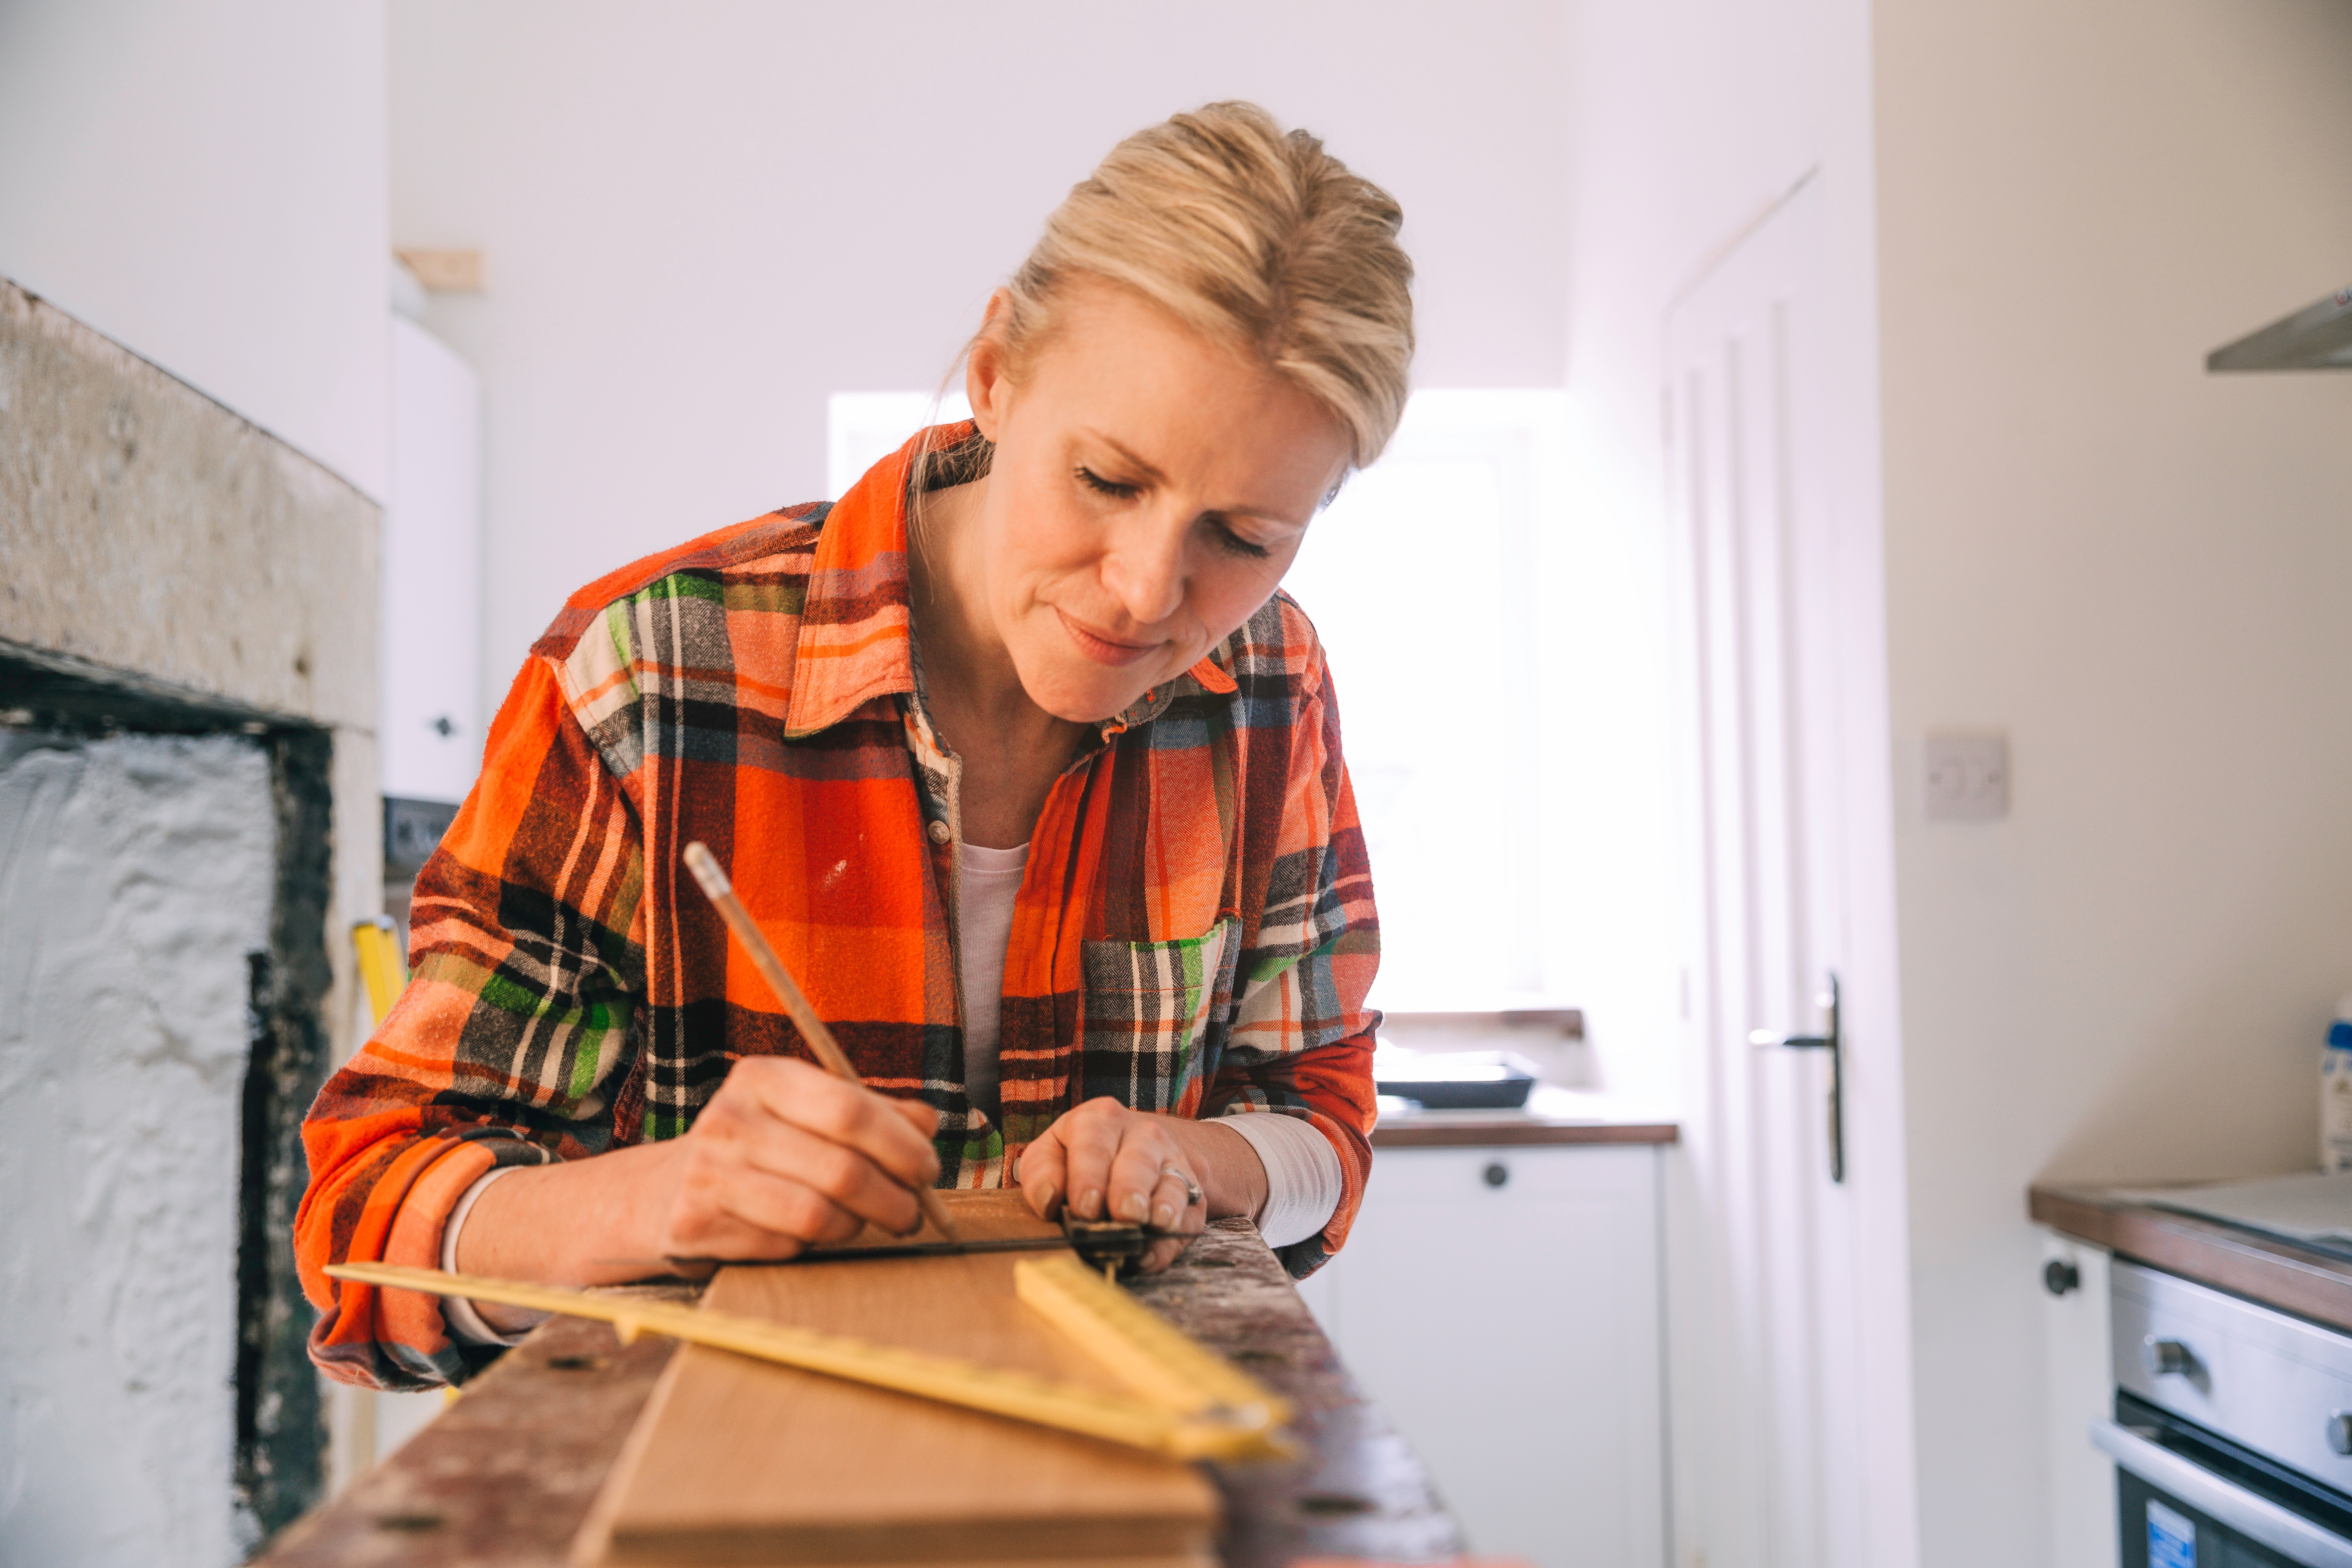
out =
[(332, 755), (0, 644), (0, 1371), (12, 1530), (52, 1561), (92, 1516), (235, 1561), (325, 1490), (292, 1229), (332, 1056)]

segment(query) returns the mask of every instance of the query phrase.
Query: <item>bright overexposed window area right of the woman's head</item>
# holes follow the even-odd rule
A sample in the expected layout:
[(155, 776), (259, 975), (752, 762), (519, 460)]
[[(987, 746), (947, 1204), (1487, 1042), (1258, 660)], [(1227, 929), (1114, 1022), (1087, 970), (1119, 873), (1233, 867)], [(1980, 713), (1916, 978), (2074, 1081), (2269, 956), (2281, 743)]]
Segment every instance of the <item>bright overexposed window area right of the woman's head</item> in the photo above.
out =
[[(1416, 393), (1381, 461), (1308, 529), (1284, 588), (1331, 658), (1381, 898), (1388, 1011), (1557, 1006), (1545, 976), (1536, 536), (1559, 393)], [(1461, 623), (1477, 646), (1446, 646)]]

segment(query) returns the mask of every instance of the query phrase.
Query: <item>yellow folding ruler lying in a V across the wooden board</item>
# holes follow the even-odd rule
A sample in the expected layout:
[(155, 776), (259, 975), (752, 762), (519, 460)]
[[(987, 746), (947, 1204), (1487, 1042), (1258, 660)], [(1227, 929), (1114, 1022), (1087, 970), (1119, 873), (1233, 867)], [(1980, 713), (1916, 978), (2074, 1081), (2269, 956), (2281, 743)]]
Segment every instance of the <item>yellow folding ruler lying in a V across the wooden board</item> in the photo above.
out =
[(682, 1302), (593, 1295), (513, 1279), (477, 1279), (390, 1262), (336, 1262), (334, 1279), (426, 1295), (461, 1295), (534, 1312), (600, 1319), (628, 1345), (640, 1333), (715, 1345), (828, 1378), (1148, 1448), (1178, 1460), (1289, 1460), (1291, 1406), (1216, 1352), (1185, 1338), (1077, 1258), (1023, 1258), (1014, 1288), (1054, 1328), (1101, 1361), (1129, 1394), (1098, 1394), (955, 1356), (870, 1345)]

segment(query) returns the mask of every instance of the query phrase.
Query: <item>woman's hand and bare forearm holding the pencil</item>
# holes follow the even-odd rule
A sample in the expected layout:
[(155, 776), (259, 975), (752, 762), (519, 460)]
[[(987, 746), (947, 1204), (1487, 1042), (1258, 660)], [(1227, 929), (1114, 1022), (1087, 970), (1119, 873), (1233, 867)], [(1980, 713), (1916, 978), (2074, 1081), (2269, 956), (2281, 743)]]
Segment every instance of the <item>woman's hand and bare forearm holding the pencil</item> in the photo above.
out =
[(936, 1124), (922, 1100), (746, 1056), (682, 1138), (499, 1178), (459, 1232), (459, 1269), (597, 1286), (670, 1258), (793, 1258), (868, 1220), (910, 1234), (913, 1187), (938, 1180)]

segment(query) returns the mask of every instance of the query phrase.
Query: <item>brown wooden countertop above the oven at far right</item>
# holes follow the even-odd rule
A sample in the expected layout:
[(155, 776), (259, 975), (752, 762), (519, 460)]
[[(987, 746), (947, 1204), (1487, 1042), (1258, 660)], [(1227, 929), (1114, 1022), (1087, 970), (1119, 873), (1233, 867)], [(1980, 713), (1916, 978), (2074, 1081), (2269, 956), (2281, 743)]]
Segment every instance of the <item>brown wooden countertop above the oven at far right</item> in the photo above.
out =
[(2352, 1262), (2098, 1187), (2032, 1187), (2027, 1213), (2119, 1258), (2352, 1333)]

